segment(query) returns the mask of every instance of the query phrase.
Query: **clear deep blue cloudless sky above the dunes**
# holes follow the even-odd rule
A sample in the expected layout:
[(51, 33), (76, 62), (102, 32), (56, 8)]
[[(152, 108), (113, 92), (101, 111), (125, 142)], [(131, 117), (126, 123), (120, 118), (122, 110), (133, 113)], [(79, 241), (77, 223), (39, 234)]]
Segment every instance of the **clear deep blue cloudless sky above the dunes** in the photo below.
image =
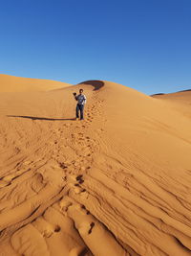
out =
[(0, 73), (191, 89), (191, 0), (7, 0)]

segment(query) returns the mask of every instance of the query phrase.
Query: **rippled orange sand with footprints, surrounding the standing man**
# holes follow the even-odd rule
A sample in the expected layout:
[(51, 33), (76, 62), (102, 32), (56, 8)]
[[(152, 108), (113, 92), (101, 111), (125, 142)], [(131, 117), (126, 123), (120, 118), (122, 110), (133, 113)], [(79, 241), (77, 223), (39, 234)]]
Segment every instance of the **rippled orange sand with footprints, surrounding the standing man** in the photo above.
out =
[(190, 255), (189, 91), (16, 84), (0, 81), (1, 256)]

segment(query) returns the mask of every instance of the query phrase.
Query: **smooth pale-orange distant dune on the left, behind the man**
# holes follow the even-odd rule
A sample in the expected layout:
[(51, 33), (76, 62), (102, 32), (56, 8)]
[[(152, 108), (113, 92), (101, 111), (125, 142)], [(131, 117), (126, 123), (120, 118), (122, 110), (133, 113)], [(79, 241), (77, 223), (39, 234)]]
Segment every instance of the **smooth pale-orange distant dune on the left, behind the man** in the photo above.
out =
[(18, 78), (0, 74), (0, 92), (46, 91), (71, 84), (62, 81)]

